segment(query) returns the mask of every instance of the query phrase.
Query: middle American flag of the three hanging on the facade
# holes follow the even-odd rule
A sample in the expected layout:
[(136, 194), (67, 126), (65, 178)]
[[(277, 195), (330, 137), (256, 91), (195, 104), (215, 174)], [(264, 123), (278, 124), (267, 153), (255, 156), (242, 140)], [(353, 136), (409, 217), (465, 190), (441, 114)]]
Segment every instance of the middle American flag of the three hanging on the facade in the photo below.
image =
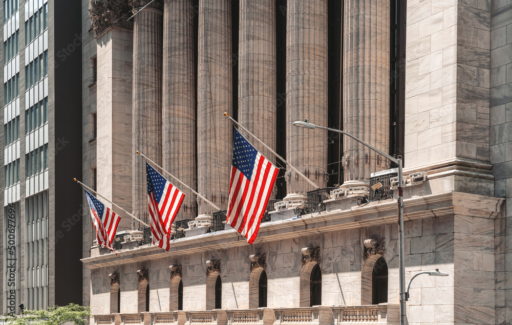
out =
[(180, 210), (185, 194), (147, 163), (146, 182), (153, 244), (168, 251), (170, 225)]

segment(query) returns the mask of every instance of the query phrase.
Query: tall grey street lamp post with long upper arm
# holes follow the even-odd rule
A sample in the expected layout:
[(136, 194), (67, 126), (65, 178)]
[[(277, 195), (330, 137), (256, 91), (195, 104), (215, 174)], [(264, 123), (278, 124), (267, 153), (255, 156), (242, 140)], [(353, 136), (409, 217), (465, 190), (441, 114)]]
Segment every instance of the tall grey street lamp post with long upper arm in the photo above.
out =
[(398, 156), (398, 158), (394, 158), (385, 152), (377, 149), (376, 147), (372, 146), (371, 144), (366, 143), (365, 141), (362, 141), (356, 137), (354, 137), (351, 134), (346, 133), (345, 131), (341, 131), (335, 128), (325, 127), (325, 126), (318, 126), (312, 123), (308, 123), (308, 120), (302, 121), (295, 121), (293, 122), (293, 125), (299, 126), (299, 127), (305, 127), (305, 128), (322, 128), (327, 131), (337, 132), (346, 135), (347, 137), (350, 137), (354, 139), (355, 141), (369, 147), (370, 149), (376, 151), (376, 153), (388, 158), (392, 162), (398, 164), (398, 259), (399, 259), (399, 281), (400, 281), (400, 325), (406, 324), (406, 301), (407, 301), (407, 292), (406, 292), (406, 272), (405, 268), (403, 266), (403, 191), (402, 191), (402, 158), (401, 156)]

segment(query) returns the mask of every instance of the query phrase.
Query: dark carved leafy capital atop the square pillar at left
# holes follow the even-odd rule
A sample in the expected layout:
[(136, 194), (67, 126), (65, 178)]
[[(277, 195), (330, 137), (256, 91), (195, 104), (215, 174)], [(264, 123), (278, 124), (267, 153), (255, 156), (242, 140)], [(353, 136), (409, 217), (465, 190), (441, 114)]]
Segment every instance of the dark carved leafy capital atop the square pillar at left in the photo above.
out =
[(130, 9), (127, 0), (96, 1), (94, 8), (89, 9), (89, 18), (96, 37), (111, 26), (133, 29), (133, 20), (119, 19)]

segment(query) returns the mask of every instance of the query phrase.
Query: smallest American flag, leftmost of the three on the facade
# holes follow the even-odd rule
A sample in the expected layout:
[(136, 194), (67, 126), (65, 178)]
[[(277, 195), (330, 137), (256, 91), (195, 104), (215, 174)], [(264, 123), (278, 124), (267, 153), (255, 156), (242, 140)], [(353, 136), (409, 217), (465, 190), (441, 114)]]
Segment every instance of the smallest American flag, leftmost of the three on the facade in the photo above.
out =
[(96, 228), (96, 239), (98, 245), (112, 248), (112, 242), (116, 235), (117, 226), (121, 221), (121, 217), (109, 208), (105, 208), (105, 205), (96, 199), (93, 194), (89, 193), (86, 189), (86, 197), (89, 202), (89, 208), (91, 208), (91, 214), (93, 217), (94, 228)]

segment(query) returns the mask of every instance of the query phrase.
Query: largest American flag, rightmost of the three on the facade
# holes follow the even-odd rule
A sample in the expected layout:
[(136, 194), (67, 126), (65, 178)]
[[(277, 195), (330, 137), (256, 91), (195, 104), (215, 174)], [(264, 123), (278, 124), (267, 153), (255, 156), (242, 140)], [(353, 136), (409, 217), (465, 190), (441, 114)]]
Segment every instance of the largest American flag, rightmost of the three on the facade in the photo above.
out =
[(249, 244), (258, 235), (278, 172), (279, 168), (234, 130), (226, 223), (245, 236)]

